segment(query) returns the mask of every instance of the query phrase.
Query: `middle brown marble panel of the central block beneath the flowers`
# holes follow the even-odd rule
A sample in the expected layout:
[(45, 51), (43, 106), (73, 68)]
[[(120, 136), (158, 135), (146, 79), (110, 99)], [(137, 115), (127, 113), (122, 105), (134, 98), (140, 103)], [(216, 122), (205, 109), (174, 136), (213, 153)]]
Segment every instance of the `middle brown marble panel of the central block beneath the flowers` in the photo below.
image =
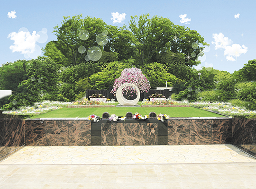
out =
[(118, 146), (142, 145), (141, 123), (117, 123), (116, 136)]

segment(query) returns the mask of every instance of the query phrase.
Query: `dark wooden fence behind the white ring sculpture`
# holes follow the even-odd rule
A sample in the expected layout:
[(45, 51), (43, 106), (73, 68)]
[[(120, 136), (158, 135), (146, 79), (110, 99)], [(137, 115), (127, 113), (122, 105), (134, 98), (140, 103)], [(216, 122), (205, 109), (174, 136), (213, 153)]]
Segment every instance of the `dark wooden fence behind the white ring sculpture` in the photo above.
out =
[[(90, 90), (90, 89), (87, 89), (86, 90), (86, 98), (88, 98), (91, 94), (102, 94), (106, 98), (109, 98), (109, 99), (114, 98), (115, 101), (117, 101), (116, 96), (114, 96), (114, 94), (110, 93), (110, 91), (111, 90), (107, 90), (107, 89), (101, 89), (101, 90)], [(170, 92), (169, 89), (165, 89), (165, 90), (150, 89), (148, 91), (148, 93), (146, 93), (146, 92), (140, 93), (139, 101), (143, 101), (144, 98), (148, 98), (149, 95), (155, 94), (155, 93), (163, 94), (163, 95), (165, 95), (166, 98), (169, 98), (171, 96), (171, 92)], [(132, 94), (132, 95), (133, 96), (124, 95), (124, 97), (126, 97), (128, 100), (133, 100), (133, 99), (135, 99), (137, 97), (136, 94)]]

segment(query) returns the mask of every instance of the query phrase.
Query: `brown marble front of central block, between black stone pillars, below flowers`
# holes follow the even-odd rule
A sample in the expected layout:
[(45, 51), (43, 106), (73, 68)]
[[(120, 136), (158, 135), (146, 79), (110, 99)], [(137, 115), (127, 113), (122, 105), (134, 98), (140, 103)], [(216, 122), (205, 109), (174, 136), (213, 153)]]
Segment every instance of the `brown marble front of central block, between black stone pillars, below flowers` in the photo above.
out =
[(103, 146), (157, 144), (157, 123), (149, 123), (145, 120), (127, 120), (126, 122), (107, 121), (101, 124), (101, 145)]

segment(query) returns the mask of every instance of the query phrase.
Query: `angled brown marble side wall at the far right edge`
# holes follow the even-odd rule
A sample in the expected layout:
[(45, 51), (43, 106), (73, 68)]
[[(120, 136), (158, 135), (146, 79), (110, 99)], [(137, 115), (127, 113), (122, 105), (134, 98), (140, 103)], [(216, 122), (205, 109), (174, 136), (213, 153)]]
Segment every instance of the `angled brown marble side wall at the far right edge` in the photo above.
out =
[(232, 120), (233, 144), (256, 156), (256, 119)]

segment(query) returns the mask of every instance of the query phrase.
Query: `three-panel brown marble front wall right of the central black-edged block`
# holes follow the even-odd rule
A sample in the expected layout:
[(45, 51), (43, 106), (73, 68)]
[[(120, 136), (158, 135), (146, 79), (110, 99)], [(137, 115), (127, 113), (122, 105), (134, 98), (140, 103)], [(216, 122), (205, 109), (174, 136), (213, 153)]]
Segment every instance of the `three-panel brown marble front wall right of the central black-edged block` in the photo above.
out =
[(168, 145), (230, 144), (231, 119), (169, 119)]

